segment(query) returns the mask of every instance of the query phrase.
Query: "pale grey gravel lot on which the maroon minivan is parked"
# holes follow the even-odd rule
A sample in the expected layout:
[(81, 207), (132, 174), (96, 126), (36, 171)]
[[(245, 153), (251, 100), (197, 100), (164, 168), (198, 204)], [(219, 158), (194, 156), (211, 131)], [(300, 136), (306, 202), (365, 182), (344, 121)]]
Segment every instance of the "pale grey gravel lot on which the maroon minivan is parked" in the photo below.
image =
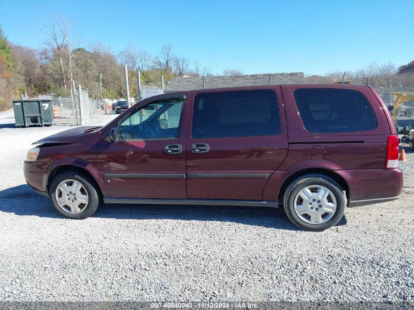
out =
[(13, 123), (0, 113), (0, 301), (414, 301), (412, 152), (401, 199), (347, 209), (321, 233), (249, 207), (107, 205), (68, 220), (22, 164), (69, 127)]

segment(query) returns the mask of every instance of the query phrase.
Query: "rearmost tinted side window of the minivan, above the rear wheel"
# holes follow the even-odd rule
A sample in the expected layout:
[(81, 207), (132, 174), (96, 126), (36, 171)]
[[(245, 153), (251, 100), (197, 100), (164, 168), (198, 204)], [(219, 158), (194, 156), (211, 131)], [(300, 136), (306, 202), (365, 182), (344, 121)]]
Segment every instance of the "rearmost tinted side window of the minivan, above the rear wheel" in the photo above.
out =
[(293, 93), (300, 118), (311, 133), (369, 131), (377, 119), (363, 94), (345, 89), (297, 89)]

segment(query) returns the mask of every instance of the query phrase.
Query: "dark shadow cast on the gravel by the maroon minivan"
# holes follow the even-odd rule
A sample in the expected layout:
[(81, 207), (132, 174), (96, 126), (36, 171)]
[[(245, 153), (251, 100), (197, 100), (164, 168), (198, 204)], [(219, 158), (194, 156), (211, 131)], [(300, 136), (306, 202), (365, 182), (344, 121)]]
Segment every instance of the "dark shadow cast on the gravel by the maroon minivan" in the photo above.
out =
[[(0, 191), (0, 212), (60, 218), (53, 211), (49, 198), (38, 195), (27, 184)], [(219, 221), (300, 230), (291, 223), (282, 207), (104, 204), (92, 217)], [(346, 225), (346, 222), (344, 216), (336, 226)]]

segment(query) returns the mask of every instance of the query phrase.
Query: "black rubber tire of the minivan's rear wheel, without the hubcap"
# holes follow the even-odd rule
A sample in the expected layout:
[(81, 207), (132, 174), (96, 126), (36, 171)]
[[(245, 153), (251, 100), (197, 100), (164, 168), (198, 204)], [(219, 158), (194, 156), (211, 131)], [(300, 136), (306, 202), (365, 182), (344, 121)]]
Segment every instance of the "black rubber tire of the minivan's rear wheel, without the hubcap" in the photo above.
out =
[[(333, 213), (333, 215), (330, 215), (331, 217), (328, 220), (320, 224), (311, 224), (305, 222), (300, 218), (298, 214), (296, 214), (294, 209), (294, 200), (299, 191), (302, 191), (306, 187), (313, 185), (323, 186), (331, 191), (335, 196), (337, 203), (335, 213)], [(306, 174), (293, 180), (292, 183), (288, 186), (284, 194), (283, 204), (286, 215), (288, 215), (289, 219), (294, 225), (304, 230), (319, 232), (336, 225), (341, 220), (343, 214), (345, 213), (346, 197), (341, 187), (333, 179), (322, 174)], [(328, 214), (324, 215), (327, 216)]]

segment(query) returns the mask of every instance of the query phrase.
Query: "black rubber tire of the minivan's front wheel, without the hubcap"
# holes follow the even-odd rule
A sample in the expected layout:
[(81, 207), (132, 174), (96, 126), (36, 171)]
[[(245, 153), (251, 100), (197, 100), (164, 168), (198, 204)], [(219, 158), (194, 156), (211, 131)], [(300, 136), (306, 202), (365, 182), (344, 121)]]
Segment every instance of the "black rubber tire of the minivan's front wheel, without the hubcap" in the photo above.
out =
[[(82, 212), (77, 213), (77, 214), (70, 214), (70, 213), (65, 212), (59, 207), (56, 201), (55, 191), (56, 191), (57, 186), (62, 181), (68, 180), (68, 179), (72, 179), (72, 180), (76, 180), (80, 182), (88, 193), (88, 204), (86, 205), (85, 209)], [(66, 218), (72, 218), (72, 219), (84, 219), (84, 218), (87, 218), (93, 215), (97, 211), (97, 207), (99, 206), (99, 202), (100, 202), (100, 196), (96, 188), (94, 187), (94, 182), (93, 180), (91, 180), (91, 177), (87, 175), (86, 173), (72, 171), (72, 170), (60, 173), (53, 179), (53, 181), (50, 184), (49, 197), (50, 197), (50, 200), (52, 201), (53, 208), (58, 215), (62, 215)]]

